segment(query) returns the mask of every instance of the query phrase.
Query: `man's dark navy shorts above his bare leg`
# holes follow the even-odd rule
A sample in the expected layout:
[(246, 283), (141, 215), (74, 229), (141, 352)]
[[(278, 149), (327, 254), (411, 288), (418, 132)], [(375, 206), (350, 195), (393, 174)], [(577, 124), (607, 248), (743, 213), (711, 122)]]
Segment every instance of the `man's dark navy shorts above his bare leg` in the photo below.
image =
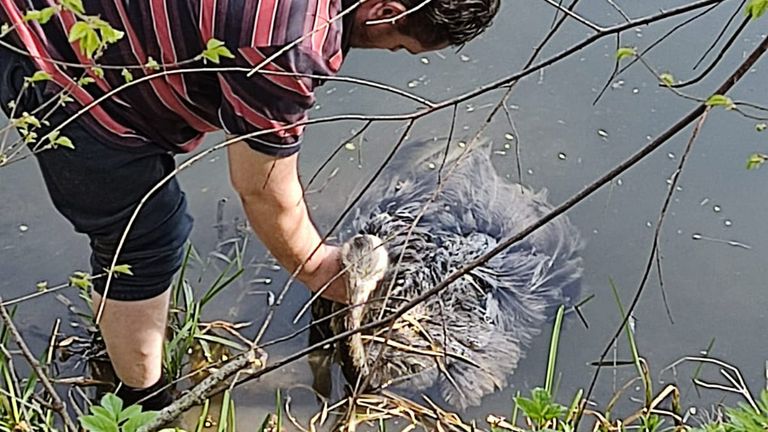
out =
[[(24, 77), (34, 72), (28, 59), (0, 47), (0, 103), (6, 114), (8, 102), (16, 100)], [(47, 99), (40, 90), (24, 93), (17, 112), (32, 112)], [(55, 126), (65, 117), (64, 113), (54, 114), (50, 123)], [(38, 135), (42, 137), (45, 132), (38, 131)], [(105, 145), (77, 121), (61, 135), (70, 138), (75, 149), (39, 152), (37, 162), (56, 209), (76, 231), (90, 238), (92, 273), (103, 274), (138, 202), (173, 171), (173, 155), (152, 145), (140, 149)], [(142, 206), (117, 260), (130, 265), (134, 276), (114, 279), (108, 298), (143, 300), (169, 288), (192, 229), (186, 210), (186, 199), (176, 179)], [(105, 282), (105, 277), (95, 279), (96, 291), (103, 293)]]

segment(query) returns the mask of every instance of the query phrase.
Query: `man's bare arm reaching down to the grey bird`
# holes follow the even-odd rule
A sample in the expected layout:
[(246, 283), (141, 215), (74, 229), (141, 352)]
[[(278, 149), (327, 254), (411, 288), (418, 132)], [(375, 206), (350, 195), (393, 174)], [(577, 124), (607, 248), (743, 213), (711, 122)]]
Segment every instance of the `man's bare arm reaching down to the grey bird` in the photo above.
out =
[[(229, 146), (227, 152), (230, 179), (251, 227), (280, 264), (294, 272), (322, 241), (304, 202), (297, 155), (275, 158), (244, 142)], [(317, 291), (340, 270), (339, 248), (323, 244), (304, 264), (298, 279)], [(323, 297), (346, 302), (343, 278), (337, 278)]]

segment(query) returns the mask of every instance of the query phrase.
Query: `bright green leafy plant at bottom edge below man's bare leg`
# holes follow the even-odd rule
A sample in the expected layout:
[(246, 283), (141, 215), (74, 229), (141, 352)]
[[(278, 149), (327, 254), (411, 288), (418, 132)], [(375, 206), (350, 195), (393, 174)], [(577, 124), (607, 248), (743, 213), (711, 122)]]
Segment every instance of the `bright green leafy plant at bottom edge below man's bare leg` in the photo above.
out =
[(139, 405), (123, 409), (123, 401), (107, 393), (99, 405), (91, 406), (91, 414), (80, 417), (80, 424), (88, 432), (135, 432), (157, 414), (157, 411), (142, 411)]

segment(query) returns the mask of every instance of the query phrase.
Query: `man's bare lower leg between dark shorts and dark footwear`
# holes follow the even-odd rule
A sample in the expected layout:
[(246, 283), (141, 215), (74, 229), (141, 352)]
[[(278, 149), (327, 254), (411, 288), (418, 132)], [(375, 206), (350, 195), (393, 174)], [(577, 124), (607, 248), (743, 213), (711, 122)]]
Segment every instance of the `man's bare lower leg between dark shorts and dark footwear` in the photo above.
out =
[[(101, 296), (92, 298), (98, 310)], [(169, 289), (147, 300), (109, 300), (104, 308), (99, 328), (115, 373), (130, 387), (147, 388), (160, 380), (170, 298)]]

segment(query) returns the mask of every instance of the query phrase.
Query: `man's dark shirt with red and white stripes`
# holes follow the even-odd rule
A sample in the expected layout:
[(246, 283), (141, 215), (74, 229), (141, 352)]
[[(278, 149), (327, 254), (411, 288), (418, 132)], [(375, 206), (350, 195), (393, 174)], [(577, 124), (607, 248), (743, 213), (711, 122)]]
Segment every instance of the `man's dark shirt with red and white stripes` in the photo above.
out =
[[(197, 69), (160, 74), (96, 105), (83, 122), (99, 139), (132, 147), (153, 143), (173, 152), (188, 152), (206, 132), (224, 129), (243, 135), (264, 131), (247, 139), (248, 144), (266, 154), (286, 156), (298, 150), (303, 127), (296, 123), (306, 119), (314, 103), (313, 91), (321, 83), (317, 76), (334, 75), (347, 50), (343, 30), (350, 25), (347, 20), (352, 14), (344, 20), (334, 19), (342, 1), (349, 2), (85, 0), (87, 15), (99, 16), (125, 32), (97, 60), (105, 66), (103, 77), (93, 68), (47, 61), (93, 64), (81, 54), (77, 42), (68, 42), (69, 30), (77, 22), (71, 12), (62, 11), (45, 24), (23, 19), (27, 11), (52, 6), (54, 0), (0, 0), (0, 18), (14, 26), (10, 36), (14, 43), (30, 53), (38, 69), (51, 75), (47, 90), (66, 88), (71, 92), (75, 103), (65, 107), (70, 112), (125, 84), (126, 72), (121, 66), (144, 65), (126, 69), (133, 80), (160, 71)], [(189, 62), (203, 52), (211, 38), (224, 42), (235, 58), (222, 57), (218, 65)], [(299, 39), (268, 62), (262, 73), (247, 76), (247, 70)], [(160, 64), (159, 70), (146, 66), (152, 60)], [(180, 62), (183, 65), (177, 65)], [(219, 70), (212, 70), (215, 68)], [(83, 74), (93, 82), (78, 87), (76, 82)]]

